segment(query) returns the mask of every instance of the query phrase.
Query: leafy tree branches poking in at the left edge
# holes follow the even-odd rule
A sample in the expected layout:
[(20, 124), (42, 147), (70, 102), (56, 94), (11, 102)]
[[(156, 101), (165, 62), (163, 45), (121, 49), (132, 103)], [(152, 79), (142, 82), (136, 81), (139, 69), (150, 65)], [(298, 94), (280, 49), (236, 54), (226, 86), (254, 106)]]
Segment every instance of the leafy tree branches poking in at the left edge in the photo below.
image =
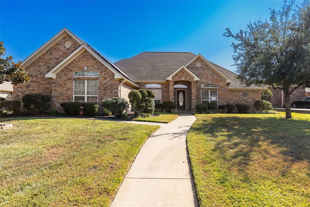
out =
[(29, 81), (30, 76), (22, 66), (22, 62), (14, 62), (13, 57), (9, 55), (7, 58), (2, 58), (5, 55), (3, 42), (0, 42), (0, 84), (4, 81), (11, 82), (14, 85)]

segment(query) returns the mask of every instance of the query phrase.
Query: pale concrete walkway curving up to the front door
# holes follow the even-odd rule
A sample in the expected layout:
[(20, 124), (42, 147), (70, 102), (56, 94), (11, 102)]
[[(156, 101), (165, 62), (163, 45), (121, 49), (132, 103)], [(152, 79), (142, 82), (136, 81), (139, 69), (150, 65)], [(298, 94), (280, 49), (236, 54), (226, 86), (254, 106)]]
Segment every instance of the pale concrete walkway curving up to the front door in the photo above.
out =
[(148, 138), (111, 206), (198, 206), (186, 147), (195, 119), (179, 113)]

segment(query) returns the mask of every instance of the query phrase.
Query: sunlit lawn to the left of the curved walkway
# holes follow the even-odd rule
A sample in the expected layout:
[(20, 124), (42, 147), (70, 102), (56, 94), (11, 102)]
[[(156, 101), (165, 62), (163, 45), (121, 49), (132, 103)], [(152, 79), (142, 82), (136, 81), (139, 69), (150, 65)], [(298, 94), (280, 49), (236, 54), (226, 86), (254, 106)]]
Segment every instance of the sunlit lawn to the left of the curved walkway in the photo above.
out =
[(0, 131), (0, 206), (109, 206), (158, 126), (7, 118)]

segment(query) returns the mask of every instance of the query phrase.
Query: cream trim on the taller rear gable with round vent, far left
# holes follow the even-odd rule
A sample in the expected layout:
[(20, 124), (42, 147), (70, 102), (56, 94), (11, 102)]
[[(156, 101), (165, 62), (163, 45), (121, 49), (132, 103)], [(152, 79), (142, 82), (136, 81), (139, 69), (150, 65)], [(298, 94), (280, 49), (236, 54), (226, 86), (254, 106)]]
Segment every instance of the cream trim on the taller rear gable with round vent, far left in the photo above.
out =
[(31, 55), (28, 56), (23, 61), (23, 67), (29, 66), (35, 59), (40, 57), (43, 53), (45, 53), (49, 48), (51, 48), (54, 44), (56, 44), (61, 38), (69, 34), (73, 39), (75, 39), (79, 44), (85, 44), (81, 39), (75, 36), (71, 31), (67, 28), (60, 30), (57, 34), (55, 34), (51, 39), (49, 39), (46, 43), (44, 43), (41, 47), (39, 47), (36, 51), (34, 51)]

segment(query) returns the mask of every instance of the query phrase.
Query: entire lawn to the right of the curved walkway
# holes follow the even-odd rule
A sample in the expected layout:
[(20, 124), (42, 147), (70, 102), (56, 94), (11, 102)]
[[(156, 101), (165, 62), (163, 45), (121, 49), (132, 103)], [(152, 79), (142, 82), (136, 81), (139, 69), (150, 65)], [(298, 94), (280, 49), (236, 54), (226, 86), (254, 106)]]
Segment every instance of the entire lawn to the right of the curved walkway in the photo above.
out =
[(310, 206), (310, 114), (198, 114), (187, 145), (199, 205)]

